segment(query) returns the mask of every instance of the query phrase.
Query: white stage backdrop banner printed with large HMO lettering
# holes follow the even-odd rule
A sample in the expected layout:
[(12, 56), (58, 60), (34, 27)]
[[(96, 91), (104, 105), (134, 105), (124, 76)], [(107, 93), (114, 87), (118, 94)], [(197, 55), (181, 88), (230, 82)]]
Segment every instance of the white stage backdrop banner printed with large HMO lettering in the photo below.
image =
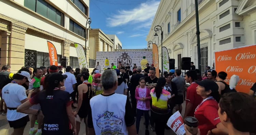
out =
[(130, 66), (131, 70), (133, 64), (142, 66), (142, 70), (144, 70), (143, 67), (145, 68), (147, 63), (152, 64), (153, 55), (151, 51), (96, 52), (96, 62), (103, 67), (102, 71), (111, 68), (111, 63), (117, 66), (118, 61), (121, 61), (124, 66)]

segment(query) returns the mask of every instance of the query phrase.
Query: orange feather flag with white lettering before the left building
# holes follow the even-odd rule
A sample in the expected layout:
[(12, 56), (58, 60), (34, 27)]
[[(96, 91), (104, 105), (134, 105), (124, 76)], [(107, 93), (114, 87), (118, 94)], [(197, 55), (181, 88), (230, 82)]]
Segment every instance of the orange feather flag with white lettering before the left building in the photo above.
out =
[(50, 65), (56, 65), (58, 66), (58, 57), (57, 57), (57, 51), (53, 43), (50, 41), (47, 41), (48, 44), (48, 50), (49, 50), (49, 59), (50, 59)]

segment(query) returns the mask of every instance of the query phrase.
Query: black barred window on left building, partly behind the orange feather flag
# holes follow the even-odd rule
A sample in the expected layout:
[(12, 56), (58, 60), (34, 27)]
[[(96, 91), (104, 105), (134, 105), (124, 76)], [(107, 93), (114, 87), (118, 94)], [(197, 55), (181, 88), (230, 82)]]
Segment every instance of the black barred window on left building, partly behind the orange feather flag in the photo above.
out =
[[(58, 63), (60, 63), (61, 55), (57, 55)], [(37, 68), (40, 66), (50, 66), (49, 53), (37, 52), (34, 50), (25, 49), (25, 67)]]

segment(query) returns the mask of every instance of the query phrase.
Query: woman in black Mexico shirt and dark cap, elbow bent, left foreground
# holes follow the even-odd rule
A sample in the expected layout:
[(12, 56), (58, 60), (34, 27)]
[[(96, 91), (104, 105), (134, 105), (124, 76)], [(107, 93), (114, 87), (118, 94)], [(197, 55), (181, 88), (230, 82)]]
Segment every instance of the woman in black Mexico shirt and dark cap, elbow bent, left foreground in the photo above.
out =
[[(33, 96), (17, 109), (17, 112), (25, 114), (40, 114), (41, 110), (30, 107), (39, 103), (44, 115), (42, 135), (72, 135), (76, 134), (75, 117), (71, 108), (73, 103), (69, 93), (60, 90), (64, 86), (67, 75), (52, 73), (45, 77), (45, 90)], [(69, 126), (72, 125), (72, 130)]]

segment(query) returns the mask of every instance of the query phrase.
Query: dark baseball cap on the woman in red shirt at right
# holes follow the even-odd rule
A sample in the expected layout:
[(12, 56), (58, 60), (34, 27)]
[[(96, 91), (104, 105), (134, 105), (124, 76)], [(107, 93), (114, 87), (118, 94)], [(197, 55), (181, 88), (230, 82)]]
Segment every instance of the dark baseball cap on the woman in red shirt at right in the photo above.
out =
[(215, 81), (210, 80), (210, 79), (205, 79), (203, 81), (195, 80), (195, 82), (198, 85), (203, 86), (205, 88), (205, 91), (212, 90), (212, 92), (217, 92), (219, 89), (218, 84)]

